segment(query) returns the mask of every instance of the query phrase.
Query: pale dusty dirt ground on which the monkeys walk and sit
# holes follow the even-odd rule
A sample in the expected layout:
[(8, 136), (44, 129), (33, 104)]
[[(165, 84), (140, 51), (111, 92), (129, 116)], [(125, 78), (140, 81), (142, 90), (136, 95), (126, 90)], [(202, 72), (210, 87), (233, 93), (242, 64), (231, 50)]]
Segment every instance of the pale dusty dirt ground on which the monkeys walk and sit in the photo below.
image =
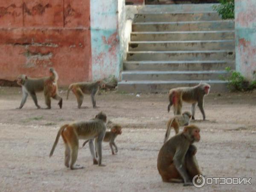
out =
[[(64, 99), (60, 110), (52, 101), (51, 110), (37, 110), (31, 97), (23, 109), (20, 88), (0, 87), (0, 191), (73, 192), (73, 191), (198, 191), (194, 186), (163, 183), (157, 171), (157, 154), (163, 144), (167, 113), (167, 94), (102, 93), (93, 109), (90, 97), (77, 109), (73, 93)], [(66, 98), (67, 92), (60, 91)], [(44, 97), (38, 94), (41, 107)], [(206, 121), (196, 110), (195, 121), (201, 128), (201, 141), (195, 145), (199, 166), (209, 177), (247, 177), (251, 185), (205, 185), (201, 191), (256, 191), (256, 92), (210, 93), (205, 98)], [(184, 104), (183, 111), (190, 110)], [(49, 152), (62, 124), (88, 120), (103, 111), (122, 124), (116, 138), (117, 155), (103, 144), (102, 162), (93, 165), (88, 145), (79, 149), (77, 163), (84, 169), (64, 166), (64, 145), (60, 139), (55, 152)], [(174, 135), (172, 131), (171, 136)], [(83, 141), (79, 143), (80, 147)]]

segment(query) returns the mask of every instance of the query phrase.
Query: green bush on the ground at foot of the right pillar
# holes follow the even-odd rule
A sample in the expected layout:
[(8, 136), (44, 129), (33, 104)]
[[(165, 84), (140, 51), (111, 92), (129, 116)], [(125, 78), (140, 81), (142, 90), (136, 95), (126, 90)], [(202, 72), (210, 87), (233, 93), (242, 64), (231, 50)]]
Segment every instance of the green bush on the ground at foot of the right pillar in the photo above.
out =
[(241, 73), (237, 71), (232, 71), (230, 67), (226, 67), (225, 70), (229, 73), (231, 73), (230, 76), (225, 78), (224, 76), (220, 76), (222, 80), (228, 81), (228, 88), (231, 91), (249, 91), (256, 88), (256, 81), (249, 82), (247, 81), (244, 76), (241, 75)]

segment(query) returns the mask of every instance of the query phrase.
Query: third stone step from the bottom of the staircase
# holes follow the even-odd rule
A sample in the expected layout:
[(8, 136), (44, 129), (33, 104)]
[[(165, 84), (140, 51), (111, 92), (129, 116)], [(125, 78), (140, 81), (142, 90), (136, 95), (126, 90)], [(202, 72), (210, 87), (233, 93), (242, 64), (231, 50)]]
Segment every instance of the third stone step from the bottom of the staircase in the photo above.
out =
[(208, 71), (224, 70), (225, 67), (235, 69), (235, 62), (224, 60), (213, 61), (125, 61), (126, 71)]

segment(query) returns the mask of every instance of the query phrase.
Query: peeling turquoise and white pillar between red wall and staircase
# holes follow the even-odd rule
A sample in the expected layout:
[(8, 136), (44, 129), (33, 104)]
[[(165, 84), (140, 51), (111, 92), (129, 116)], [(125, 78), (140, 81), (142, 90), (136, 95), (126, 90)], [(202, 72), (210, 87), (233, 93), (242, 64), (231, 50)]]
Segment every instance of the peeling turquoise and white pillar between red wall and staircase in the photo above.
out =
[(93, 80), (110, 75), (119, 78), (122, 66), (122, 51), (119, 45), (119, 3), (124, 3), (124, 0), (90, 0)]

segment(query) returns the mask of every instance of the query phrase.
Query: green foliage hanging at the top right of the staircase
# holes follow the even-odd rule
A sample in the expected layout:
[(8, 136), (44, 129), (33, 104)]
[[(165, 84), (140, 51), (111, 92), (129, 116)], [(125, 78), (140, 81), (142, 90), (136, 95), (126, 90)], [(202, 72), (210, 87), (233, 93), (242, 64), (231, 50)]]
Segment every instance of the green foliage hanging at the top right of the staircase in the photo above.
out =
[(219, 5), (214, 5), (213, 9), (221, 15), (221, 18), (234, 19), (235, 18), (235, 2), (234, 0), (219, 0)]

